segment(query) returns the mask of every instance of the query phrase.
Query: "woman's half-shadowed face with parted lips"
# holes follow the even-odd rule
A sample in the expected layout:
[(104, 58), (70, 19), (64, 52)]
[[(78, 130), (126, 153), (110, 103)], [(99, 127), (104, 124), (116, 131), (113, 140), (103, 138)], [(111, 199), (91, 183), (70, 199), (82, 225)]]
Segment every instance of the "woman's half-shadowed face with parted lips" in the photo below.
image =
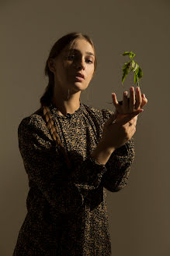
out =
[[(69, 50), (66, 46), (54, 59), (55, 86), (62, 91), (83, 91), (88, 87), (94, 73), (95, 53), (92, 45), (85, 39), (76, 39), (74, 47)], [(82, 73), (85, 79), (75, 78), (76, 73)]]

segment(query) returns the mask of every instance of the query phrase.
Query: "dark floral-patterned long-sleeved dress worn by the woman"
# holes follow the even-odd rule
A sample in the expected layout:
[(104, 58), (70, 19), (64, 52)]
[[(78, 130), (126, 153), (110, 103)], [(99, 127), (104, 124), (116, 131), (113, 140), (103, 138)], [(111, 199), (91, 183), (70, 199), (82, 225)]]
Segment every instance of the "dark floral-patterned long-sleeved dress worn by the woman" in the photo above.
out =
[(113, 114), (82, 104), (73, 114), (50, 105), (68, 170), (43, 119), (43, 109), (19, 123), (19, 151), (29, 180), (27, 214), (12, 256), (111, 256), (106, 189), (126, 186), (134, 161), (134, 139), (110, 156), (106, 165), (92, 158), (102, 127)]

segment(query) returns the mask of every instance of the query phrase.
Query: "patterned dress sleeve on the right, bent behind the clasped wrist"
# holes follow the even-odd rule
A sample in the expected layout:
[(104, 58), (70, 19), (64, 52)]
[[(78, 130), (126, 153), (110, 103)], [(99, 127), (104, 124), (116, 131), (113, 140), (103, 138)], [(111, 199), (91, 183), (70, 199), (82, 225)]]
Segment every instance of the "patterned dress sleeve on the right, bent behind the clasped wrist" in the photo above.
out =
[[(102, 109), (104, 122), (113, 112)], [(130, 166), (134, 162), (134, 138), (131, 137), (122, 147), (117, 148), (106, 162), (106, 172), (102, 176), (102, 185), (111, 192), (116, 192), (127, 185), (130, 175)]]

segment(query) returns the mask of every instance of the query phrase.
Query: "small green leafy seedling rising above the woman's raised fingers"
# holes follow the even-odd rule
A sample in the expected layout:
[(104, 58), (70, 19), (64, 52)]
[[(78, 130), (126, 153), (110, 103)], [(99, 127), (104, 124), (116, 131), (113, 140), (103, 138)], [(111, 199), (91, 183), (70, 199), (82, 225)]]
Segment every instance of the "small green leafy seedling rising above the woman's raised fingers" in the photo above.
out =
[[(139, 79), (143, 76), (143, 72), (141, 67), (137, 64), (137, 62), (134, 62), (134, 56), (136, 55), (134, 52), (124, 52), (123, 56), (129, 55), (130, 62), (127, 62), (123, 66), (123, 76), (122, 76), (122, 85), (123, 82), (128, 75), (130, 71), (134, 71), (134, 84), (137, 83), (137, 86), (139, 86)], [(130, 70), (131, 66), (131, 70)]]

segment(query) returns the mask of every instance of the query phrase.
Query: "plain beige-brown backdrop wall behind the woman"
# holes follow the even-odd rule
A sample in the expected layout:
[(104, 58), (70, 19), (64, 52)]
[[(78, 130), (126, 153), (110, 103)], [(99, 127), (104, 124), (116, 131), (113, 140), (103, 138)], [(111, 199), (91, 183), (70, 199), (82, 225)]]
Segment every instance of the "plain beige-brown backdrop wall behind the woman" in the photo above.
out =
[(0, 2), (1, 255), (12, 255), (26, 216), (29, 187), (17, 129), (40, 107), (50, 48), (73, 31), (92, 37), (99, 64), (82, 92), (83, 103), (113, 110), (106, 104), (111, 93), (122, 100), (123, 91), (134, 85), (132, 75), (121, 85), (124, 51), (137, 54), (134, 60), (144, 72), (141, 91), (148, 104), (137, 121), (130, 180), (120, 192), (107, 193), (113, 256), (170, 255), (169, 11), (168, 0)]

